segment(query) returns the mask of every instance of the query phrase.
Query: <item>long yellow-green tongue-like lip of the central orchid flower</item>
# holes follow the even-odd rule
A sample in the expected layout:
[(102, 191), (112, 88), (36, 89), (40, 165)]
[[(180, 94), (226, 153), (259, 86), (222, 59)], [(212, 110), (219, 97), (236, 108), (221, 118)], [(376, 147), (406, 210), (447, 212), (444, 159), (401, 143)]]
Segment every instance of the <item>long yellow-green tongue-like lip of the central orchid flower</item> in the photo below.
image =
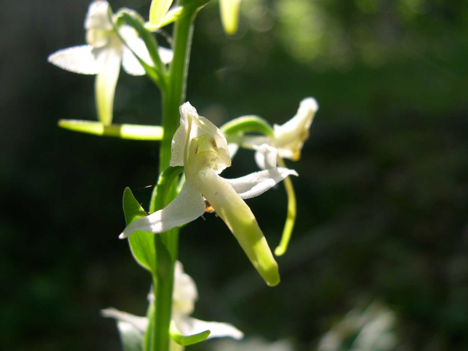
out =
[(278, 264), (249, 206), (211, 168), (200, 170), (195, 180), (197, 188), (229, 227), (265, 282), (270, 286), (277, 285)]

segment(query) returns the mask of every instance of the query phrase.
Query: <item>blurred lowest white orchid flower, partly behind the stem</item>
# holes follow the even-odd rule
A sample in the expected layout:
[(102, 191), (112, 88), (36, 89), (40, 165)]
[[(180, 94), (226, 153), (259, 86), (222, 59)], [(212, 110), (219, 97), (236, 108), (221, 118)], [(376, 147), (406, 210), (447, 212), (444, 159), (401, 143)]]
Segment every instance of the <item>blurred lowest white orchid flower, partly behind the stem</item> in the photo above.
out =
[[(148, 294), (150, 303), (154, 302), (154, 294)], [(190, 317), (195, 309), (195, 301), (198, 300), (197, 285), (193, 279), (183, 271), (183, 265), (176, 261), (174, 266), (174, 288), (172, 291), (172, 317), (171, 317), (171, 332), (176, 330), (177, 333), (183, 336), (191, 336), (210, 331), (208, 339), (215, 337), (232, 337), (240, 340), (244, 334), (232, 324), (221, 322), (205, 322), (196, 318)], [(111, 317), (117, 320), (117, 327), (120, 331), (123, 344), (125, 343), (142, 343), (143, 336), (148, 326), (146, 317), (139, 317), (126, 312), (118, 311), (115, 308), (107, 308), (102, 310), (104, 317)], [(130, 339), (130, 340), (129, 340)], [(182, 346), (171, 343), (171, 351), (183, 350)]]

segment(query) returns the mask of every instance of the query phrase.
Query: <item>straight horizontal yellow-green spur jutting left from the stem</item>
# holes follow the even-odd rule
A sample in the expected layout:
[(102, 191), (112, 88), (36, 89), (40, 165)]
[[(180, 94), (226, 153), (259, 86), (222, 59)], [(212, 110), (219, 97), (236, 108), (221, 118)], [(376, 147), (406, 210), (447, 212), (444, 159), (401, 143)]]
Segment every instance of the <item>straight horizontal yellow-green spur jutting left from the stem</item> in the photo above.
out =
[(73, 132), (132, 140), (162, 140), (164, 129), (159, 125), (110, 124), (79, 119), (60, 119), (59, 127)]

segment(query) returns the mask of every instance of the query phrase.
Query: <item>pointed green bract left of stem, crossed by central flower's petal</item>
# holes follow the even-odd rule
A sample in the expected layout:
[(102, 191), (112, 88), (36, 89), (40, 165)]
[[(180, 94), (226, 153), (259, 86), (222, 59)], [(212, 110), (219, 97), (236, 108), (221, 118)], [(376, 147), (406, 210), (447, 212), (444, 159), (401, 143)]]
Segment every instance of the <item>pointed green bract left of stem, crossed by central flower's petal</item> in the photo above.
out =
[[(133, 196), (132, 190), (128, 187), (124, 190), (123, 205), (125, 222), (127, 225), (132, 223), (135, 219), (148, 215)], [(142, 232), (140, 230), (136, 231), (129, 236), (128, 243), (135, 261), (153, 275), (156, 274), (154, 234)]]

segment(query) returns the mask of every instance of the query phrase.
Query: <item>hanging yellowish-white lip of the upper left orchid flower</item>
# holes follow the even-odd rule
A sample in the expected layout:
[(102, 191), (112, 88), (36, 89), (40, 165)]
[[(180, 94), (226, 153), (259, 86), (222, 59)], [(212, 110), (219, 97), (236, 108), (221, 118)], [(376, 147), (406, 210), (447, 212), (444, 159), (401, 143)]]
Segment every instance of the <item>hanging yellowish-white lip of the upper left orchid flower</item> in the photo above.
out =
[(122, 52), (121, 47), (116, 45), (109, 45), (102, 50), (102, 54), (105, 55), (104, 66), (95, 81), (96, 109), (99, 121), (110, 125)]

